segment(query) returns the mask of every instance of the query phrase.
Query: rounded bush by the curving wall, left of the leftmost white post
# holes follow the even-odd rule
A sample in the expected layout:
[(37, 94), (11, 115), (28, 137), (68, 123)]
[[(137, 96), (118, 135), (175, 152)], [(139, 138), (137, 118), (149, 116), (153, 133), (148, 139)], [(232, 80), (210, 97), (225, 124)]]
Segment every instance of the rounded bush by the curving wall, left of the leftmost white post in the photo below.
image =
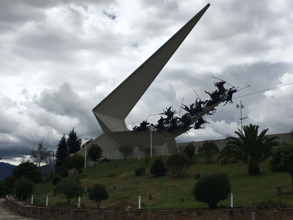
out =
[(34, 189), (33, 181), (23, 176), (20, 179), (16, 180), (13, 186), (15, 194), (21, 199), (25, 199), (25, 197), (31, 194)]

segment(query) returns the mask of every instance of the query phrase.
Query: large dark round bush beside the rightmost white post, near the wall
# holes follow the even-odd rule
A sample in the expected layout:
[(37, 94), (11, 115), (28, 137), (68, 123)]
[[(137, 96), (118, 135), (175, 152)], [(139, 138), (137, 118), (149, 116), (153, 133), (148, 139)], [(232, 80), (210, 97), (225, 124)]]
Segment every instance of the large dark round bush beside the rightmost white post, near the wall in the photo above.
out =
[(226, 173), (209, 174), (193, 187), (192, 194), (199, 202), (206, 203), (210, 209), (217, 207), (217, 203), (224, 201), (231, 192), (230, 182)]

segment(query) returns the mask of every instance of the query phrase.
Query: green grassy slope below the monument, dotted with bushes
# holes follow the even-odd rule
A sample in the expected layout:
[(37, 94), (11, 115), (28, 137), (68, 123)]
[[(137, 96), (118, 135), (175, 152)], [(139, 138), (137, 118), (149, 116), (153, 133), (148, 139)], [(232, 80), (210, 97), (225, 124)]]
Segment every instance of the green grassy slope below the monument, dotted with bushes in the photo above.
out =
[[(166, 160), (167, 157), (162, 157)], [(143, 209), (194, 209), (205, 208), (207, 205), (195, 201), (191, 194), (193, 186), (197, 182), (195, 174), (201, 173), (201, 176), (210, 173), (225, 172), (228, 174), (231, 183), (231, 192), (233, 193), (234, 207), (252, 207), (253, 203), (263, 200), (275, 200), (286, 202), (293, 206), (291, 192), (291, 177), (289, 174), (272, 173), (269, 169), (269, 160), (260, 164), (260, 175), (249, 176), (247, 165), (239, 162), (236, 164), (224, 165), (221, 167), (218, 163), (206, 164), (203, 158), (198, 158), (182, 177), (171, 175), (170, 172), (163, 177), (153, 177), (150, 173), (151, 164), (156, 158), (151, 158), (149, 165), (145, 164), (144, 159), (126, 159), (106, 162), (105, 165), (98, 164), (96, 169), (88, 167), (84, 170), (86, 177), (81, 178), (84, 187), (89, 187), (93, 183), (103, 183), (107, 186), (109, 199), (103, 201), (101, 209), (125, 210), (129, 204), (134, 204), (137, 209), (138, 196), (141, 196)], [(147, 170), (144, 176), (135, 176), (134, 170), (139, 167), (145, 167)], [(116, 177), (109, 177), (115, 172)], [(77, 176), (72, 173), (69, 178)], [(125, 177), (125, 178), (123, 178)], [(125, 188), (124, 188), (125, 182)], [(113, 185), (116, 189), (113, 189)], [(282, 195), (276, 195), (276, 187), (281, 187)], [(49, 196), (49, 206), (61, 207), (60, 204), (66, 202), (64, 195), (54, 197), (54, 186), (52, 183), (46, 185), (36, 185), (33, 192), (34, 202), (45, 204), (46, 196)], [(287, 193), (286, 193), (287, 192)], [(149, 200), (149, 194), (153, 199)], [(184, 202), (180, 202), (183, 198)], [(26, 200), (30, 203), (30, 198)], [(88, 199), (88, 193), (81, 198), (81, 203), (85, 208), (95, 209), (96, 204)], [(230, 197), (218, 206), (230, 205)], [(63, 205), (64, 207), (64, 205)], [(77, 202), (74, 207), (77, 207)]]

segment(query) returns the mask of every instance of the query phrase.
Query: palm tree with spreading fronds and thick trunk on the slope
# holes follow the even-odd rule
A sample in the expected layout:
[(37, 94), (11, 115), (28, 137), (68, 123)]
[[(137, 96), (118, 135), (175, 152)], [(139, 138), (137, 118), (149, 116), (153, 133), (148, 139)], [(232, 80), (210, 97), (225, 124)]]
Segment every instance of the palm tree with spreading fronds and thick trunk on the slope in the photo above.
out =
[(243, 133), (239, 128), (238, 131), (234, 132), (239, 138), (226, 138), (226, 146), (221, 151), (219, 158), (235, 157), (237, 160), (248, 164), (249, 175), (258, 175), (259, 164), (270, 156), (272, 147), (278, 145), (278, 142), (274, 140), (279, 137), (264, 137), (269, 130), (268, 128), (258, 136), (259, 125), (249, 124), (249, 126), (244, 125), (242, 128)]

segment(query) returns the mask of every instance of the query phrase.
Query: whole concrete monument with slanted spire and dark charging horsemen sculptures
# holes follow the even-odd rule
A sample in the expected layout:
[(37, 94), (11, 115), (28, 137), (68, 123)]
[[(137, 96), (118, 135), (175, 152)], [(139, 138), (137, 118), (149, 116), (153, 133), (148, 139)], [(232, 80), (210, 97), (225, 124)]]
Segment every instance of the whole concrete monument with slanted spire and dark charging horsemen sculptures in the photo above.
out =
[[(105, 148), (108, 150), (117, 150), (117, 147), (120, 145), (132, 145), (134, 148), (140, 145), (149, 145), (150, 131), (147, 129), (149, 123), (143, 121), (141, 126), (135, 126), (133, 130), (130, 131), (125, 124), (125, 118), (209, 6), (210, 4), (207, 4), (200, 10), (114, 89), (113, 92), (93, 108), (93, 114), (96, 116), (103, 133), (94, 139), (90, 145), (93, 143), (98, 144), (104, 151)], [(202, 119), (202, 116), (205, 114), (212, 114), (211, 112), (215, 111), (214, 107), (227, 100), (227, 90), (223, 87), (224, 83), (225, 82), (222, 81), (217, 83), (217, 85), (215, 84), (215, 86), (219, 88), (219, 92), (216, 90), (214, 93), (209, 94), (211, 100), (196, 101), (195, 104), (190, 105), (190, 109), (185, 106), (184, 109), (188, 112), (184, 114), (182, 118), (174, 117), (174, 112), (170, 110), (171, 107), (162, 113), (162, 115), (166, 115), (167, 118), (164, 119), (161, 117), (157, 125), (151, 124), (151, 126), (157, 130), (157, 132), (152, 132), (152, 145), (161, 145), (166, 143), (168, 139), (175, 138), (187, 132), (193, 128), (193, 126), (191, 126), (193, 123), (195, 123), (195, 129), (200, 129), (202, 128), (202, 124), (208, 123), (206, 120)], [(231, 94), (231, 89), (229, 94)], [(81, 153), (81, 151), (83, 151), (83, 149), (78, 153)], [(171, 151), (171, 148), (169, 151)], [(174, 147), (172, 147), (172, 151), (174, 151)]]

